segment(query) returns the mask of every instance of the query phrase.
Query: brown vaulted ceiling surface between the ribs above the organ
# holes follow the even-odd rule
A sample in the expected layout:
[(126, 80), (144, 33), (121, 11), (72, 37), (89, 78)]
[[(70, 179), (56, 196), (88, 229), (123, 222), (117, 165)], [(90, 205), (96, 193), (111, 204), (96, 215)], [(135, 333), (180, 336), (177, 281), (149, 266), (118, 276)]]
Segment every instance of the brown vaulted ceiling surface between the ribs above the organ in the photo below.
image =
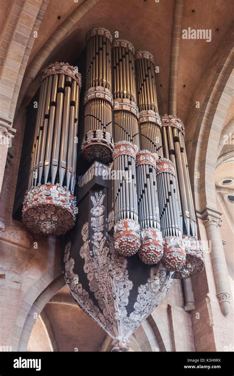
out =
[[(42, 19), (28, 66), (46, 40), (62, 25), (81, 3), (50, 0)], [(136, 50), (146, 49), (155, 56), (159, 73), (156, 78), (160, 114), (168, 112), (169, 71), (174, 22), (174, 0), (100, 0), (67, 33), (43, 66), (53, 61), (77, 63), (85, 48), (85, 36), (96, 25), (108, 28), (113, 37), (129, 40)], [(209, 65), (217, 47), (222, 43), (233, 22), (232, 0), (186, 0), (182, 15), (182, 30), (211, 30), (211, 42), (181, 39), (178, 60), (177, 115), (186, 120), (196, 86)]]

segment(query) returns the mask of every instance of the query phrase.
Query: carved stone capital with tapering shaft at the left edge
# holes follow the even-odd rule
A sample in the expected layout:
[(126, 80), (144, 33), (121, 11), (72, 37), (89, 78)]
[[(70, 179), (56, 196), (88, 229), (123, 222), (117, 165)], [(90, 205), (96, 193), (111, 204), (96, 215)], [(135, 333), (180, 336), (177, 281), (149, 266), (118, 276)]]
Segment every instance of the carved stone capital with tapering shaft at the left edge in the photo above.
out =
[(0, 118), (0, 192), (5, 171), (7, 152), (8, 148), (11, 147), (11, 142), (15, 132), (16, 130), (12, 128), (10, 121)]

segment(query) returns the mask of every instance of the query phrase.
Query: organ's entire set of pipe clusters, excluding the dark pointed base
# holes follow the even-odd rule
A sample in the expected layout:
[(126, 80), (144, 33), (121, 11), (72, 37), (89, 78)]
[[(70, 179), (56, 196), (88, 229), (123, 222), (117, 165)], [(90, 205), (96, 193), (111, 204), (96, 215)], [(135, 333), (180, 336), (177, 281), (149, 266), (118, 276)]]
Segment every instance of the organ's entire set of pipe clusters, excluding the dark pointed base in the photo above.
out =
[[(94, 27), (87, 34), (83, 158), (115, 172), (114, 245), (123, 256), (161, 263), (174, 278), (202, 270), (195, 209), (180, 119), (158, 114), (155, 60)], [(44, 70), (23, 221), (59, 235), (75, 221), (81, 77), (69, 64)], [(113, 124), (114, 122), (114, 124)]]

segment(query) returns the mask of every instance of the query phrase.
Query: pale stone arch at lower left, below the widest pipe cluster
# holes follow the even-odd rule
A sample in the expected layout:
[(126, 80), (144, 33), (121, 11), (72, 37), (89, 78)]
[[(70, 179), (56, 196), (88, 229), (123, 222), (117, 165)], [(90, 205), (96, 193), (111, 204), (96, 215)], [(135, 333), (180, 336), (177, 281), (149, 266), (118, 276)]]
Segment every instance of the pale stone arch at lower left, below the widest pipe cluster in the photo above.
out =
[(65, 285), (61, 265), (46, 271), (24, 295), (12, 330), (13, 351), (26, 351), (35, 321), (49, 300)]

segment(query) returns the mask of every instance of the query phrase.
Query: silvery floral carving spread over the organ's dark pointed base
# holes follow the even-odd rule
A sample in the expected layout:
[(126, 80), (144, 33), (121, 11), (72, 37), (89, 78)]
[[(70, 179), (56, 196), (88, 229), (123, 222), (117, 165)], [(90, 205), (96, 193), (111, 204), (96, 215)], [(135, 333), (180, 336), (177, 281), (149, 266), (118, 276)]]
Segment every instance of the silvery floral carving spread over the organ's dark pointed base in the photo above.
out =
[(65, 247), (65, 281), (80, 308), (116, 339), (117, 343), (125, 346), (127, 338), (165, 296), (172, 282), (172, 273), (166, 271), (161, 264), (151, 268), (147, 283), (135, 286), (138, 294), (133, 311), (128, 315), (126, 307), (134, 286), (129, 280), (127, 258), (116, 252), (113, 237), (106, 235), (105, 223), (109, 221), (104, 217), (104, 197), (101, 191), (91, 196), (91, 223), (85, 223), (81, 229), (83, 245), (80, 256), (84, 260), (89, 289), (98, 305), (94, 304), (89, 293), (82, 287), (78, 275), (74, 273), (75, 260), (70, 258), (71, 242)]

